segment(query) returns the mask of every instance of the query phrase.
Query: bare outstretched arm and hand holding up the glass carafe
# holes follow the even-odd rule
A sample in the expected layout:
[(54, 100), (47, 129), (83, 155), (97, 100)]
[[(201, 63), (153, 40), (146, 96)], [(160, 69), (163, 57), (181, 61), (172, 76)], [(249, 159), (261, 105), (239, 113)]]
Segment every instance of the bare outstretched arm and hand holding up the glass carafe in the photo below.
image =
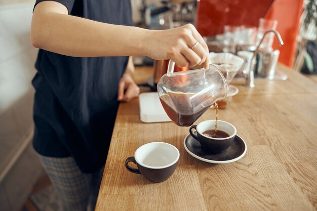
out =
[[(191, 49), (196, 41), (200, 45)], [(106, 24), (68, 15), (54, 1), (36, 5), (31, 42), (35, 48), (75, 57), (142, 55), (172, 59), (179, 66), (208, 64), (207, 45), (191, 24), (168, 30)]]

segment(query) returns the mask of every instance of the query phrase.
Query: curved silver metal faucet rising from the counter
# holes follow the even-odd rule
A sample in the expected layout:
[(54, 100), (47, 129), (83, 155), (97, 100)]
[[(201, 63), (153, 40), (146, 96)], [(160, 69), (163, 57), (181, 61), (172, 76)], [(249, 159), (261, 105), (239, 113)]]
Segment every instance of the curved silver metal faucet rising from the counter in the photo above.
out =
[(255, 59), (256, 55), (259, 52), (259, 48), (260, 48), (260, 45), (262, 44), (262, 41), (263, 41), (264, 37), (270, 32), (273, 32), (275, 34), (276, 38), (278, 38), (280, 46), (284, 45), (282, 37), (281, 37), (281, 35), (280, 35), (280, 33), (278, 31), (275, 31), (275, 30), (271, 29), (271, 30), (266, 31), (263, 34), (263, 37), (260, 40), (260, 43), (258, 44), (257, 48), (255, 49), (255, 51), (253, 53), (253, 57), (252, 57), (252, 59), (250, 61), (249, 72), (246, 75), (246, 83), (245, 83), (245, 86), (247, 86), (247, 87), (251, 87), (251, 88), (255, 87), (255, 85), (254, 85), (254, 72), (253, 72), (253, 69), (252, 69), (253, 60)]

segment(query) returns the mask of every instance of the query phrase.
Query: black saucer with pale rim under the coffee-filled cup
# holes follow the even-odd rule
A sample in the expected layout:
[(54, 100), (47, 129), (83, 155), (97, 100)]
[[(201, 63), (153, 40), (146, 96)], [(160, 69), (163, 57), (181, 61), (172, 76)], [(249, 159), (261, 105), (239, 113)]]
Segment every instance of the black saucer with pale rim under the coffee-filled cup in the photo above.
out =
[(233, 143), (229, 148), (220, 154), (211, 154), (202, 149), (199, 141), (196, 141), (190, 134), (184, 139), (186, 151), (193, 157), (211, 163), (229, 163), (241, 159), (247, 152), (246, 142), (235, 135)]

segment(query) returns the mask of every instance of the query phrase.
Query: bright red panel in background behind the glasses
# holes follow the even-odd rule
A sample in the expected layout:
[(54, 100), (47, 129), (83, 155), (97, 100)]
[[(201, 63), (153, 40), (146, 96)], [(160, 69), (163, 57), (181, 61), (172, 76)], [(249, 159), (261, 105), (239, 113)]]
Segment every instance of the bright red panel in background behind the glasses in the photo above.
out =
[(302, 12), (303, 0), (201, 0), (196, 28), (203, 36), (214, 36), (223, 33), (225, 25), (258, 26), (261, 17), (277, 20), (284, 46), (274, 39), (273, 49), (281, 51), (280, 62), (293, 67)]

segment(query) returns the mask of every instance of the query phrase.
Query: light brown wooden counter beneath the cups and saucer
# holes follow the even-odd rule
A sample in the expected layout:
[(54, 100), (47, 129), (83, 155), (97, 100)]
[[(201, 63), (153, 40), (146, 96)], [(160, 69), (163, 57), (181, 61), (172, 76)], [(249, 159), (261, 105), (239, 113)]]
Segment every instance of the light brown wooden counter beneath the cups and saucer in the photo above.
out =
[[(121, 103), (96, 210), (316, 210), (317, 83), (282, 65), (278, 69), (289, 79), (256, 79), (253, 89), (232, 82), (240, 92), (219, 110), (219, 119), (235, 125), (248, 151), (228, 164), (189, 155), (183, 146), (188, 127), (142, 123), (138, 99)], [(196, 123), (214, 118), (210, 109)], [(154, 141), (180, 151), (175, 173), (162, 183), (124, 165), (139, 146)]]

